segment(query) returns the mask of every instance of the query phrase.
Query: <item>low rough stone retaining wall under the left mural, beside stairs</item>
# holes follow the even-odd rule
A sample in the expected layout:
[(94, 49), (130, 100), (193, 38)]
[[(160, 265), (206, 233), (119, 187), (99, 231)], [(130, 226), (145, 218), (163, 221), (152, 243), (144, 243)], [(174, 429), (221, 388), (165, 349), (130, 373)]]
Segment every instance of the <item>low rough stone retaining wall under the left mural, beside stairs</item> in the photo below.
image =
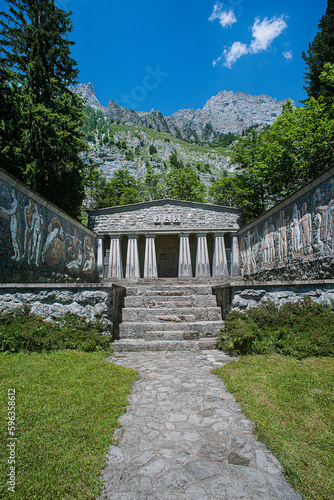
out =
[(114, 338), (125, 289), (115, 285), (98, 284), (0, 284), (0, 314), (26, 311), (46, 320), (57, 320), (71, 314), (87, 320), (100, 320)]

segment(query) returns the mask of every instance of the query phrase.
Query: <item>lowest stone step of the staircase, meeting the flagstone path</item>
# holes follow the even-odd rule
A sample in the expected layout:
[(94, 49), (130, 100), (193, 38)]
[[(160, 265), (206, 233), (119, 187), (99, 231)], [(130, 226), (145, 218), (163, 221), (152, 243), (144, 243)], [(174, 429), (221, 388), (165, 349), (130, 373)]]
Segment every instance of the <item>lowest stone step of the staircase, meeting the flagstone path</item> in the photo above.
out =
[(123, 351), (193, 351), (215, 349), (216, 339), (198, 340), (115, 340), (111, 347), (115, 352)]

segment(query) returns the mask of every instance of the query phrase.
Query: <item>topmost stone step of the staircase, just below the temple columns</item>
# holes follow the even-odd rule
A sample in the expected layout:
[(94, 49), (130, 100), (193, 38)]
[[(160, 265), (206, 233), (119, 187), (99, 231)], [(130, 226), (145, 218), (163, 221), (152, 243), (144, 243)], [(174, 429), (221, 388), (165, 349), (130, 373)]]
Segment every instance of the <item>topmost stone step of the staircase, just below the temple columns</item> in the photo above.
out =
[(174, 286), (127, 286), (126, 295), (155, 295), (159, 297), (177, 297), (183, 295), (212, 295), (210, 285), (174, 285)]

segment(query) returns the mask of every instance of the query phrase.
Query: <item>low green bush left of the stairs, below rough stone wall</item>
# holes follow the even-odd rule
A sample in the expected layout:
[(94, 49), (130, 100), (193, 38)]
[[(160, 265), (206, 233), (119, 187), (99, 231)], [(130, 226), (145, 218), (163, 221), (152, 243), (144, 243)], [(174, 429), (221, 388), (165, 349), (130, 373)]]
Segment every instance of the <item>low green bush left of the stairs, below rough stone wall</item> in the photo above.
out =
[(103, 335), (99, 322), (64, 316), (46, 322), (27, 313), (0, 315), (0, 352), (42, 352), (76, 349), (84, 352), (110, 350), (111, 337)]

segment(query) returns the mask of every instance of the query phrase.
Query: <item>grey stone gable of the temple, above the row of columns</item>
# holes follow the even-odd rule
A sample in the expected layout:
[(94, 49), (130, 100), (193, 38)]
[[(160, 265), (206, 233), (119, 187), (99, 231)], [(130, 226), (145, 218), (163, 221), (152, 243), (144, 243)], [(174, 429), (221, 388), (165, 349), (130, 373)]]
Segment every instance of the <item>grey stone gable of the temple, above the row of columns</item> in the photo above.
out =
[(98, 234), (235, 232), (241, 210), (204, 203), (158, 200), (105, 208), (89, 214), (89, 227)]

